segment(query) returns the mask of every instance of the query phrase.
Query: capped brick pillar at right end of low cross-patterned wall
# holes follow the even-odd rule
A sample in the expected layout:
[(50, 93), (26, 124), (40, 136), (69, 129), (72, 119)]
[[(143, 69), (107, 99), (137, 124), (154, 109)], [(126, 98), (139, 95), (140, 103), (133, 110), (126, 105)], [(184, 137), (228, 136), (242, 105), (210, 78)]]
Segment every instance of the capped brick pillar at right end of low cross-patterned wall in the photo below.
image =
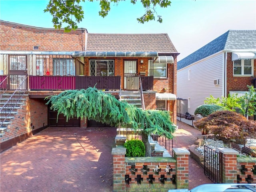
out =
[(188, 156), (190, 152), (185, 148), (173, 148), (176, 159), (176, 184), (177, 189), (188, 188)]

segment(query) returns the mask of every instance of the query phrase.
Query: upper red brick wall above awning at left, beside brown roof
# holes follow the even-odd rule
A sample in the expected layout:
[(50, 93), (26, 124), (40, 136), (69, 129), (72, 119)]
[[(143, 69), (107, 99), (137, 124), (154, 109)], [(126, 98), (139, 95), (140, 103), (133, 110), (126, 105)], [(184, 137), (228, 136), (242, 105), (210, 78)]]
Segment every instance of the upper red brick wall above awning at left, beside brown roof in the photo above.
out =
[(1, 50), (32, 51), (82, 51), (86, 32), (30, 27), (1, 21)]

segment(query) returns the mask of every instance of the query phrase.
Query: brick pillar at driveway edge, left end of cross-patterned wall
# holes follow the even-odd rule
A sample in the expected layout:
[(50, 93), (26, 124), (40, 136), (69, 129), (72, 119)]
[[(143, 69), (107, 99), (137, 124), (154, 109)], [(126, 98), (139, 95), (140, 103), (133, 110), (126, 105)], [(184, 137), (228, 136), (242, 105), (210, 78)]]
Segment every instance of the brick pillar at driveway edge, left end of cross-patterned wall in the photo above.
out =
[(112, 148), (114, 192), (125, 191), (125, 154), (126, 148)]

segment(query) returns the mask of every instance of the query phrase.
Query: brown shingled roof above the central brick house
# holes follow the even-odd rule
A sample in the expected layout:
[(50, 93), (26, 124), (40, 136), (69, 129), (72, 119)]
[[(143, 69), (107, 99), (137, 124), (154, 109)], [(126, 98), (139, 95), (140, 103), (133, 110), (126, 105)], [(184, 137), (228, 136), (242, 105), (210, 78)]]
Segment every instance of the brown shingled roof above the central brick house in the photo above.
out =
[(86, 51), (177, 53), (168, 34), (88, 33)]

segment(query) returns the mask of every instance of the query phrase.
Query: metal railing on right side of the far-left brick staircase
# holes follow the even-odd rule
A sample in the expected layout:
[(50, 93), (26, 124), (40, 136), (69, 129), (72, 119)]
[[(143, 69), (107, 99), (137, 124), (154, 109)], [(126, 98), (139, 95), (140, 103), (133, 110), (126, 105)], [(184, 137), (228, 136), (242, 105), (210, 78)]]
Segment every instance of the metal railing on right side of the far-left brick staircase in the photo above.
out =
[(26, 93), (26, 82), (27, 78), (24, 78), (24, 80), (20, 83), (20, 85), (17, 84), (17, 89), (13, 92), (13, 94), (10, 96), (10, 98), (6, 101), (6, 103), (0, 108), (0, 127), (4, 124), (8, 116), (10, 116), (11, 112), (15, 109), (15, 107), (20, 102), (22, 96)]

